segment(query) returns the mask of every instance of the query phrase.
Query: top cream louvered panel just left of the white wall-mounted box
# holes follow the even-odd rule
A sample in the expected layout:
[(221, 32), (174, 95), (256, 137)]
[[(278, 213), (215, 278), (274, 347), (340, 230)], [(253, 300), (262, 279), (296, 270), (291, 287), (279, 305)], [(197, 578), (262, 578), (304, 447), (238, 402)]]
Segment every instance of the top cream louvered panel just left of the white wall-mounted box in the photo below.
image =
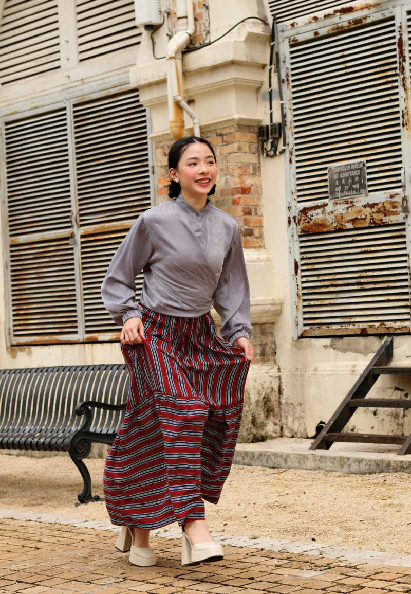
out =
[(77, 0), (79, 59), (137, 45), (133, 0)]

